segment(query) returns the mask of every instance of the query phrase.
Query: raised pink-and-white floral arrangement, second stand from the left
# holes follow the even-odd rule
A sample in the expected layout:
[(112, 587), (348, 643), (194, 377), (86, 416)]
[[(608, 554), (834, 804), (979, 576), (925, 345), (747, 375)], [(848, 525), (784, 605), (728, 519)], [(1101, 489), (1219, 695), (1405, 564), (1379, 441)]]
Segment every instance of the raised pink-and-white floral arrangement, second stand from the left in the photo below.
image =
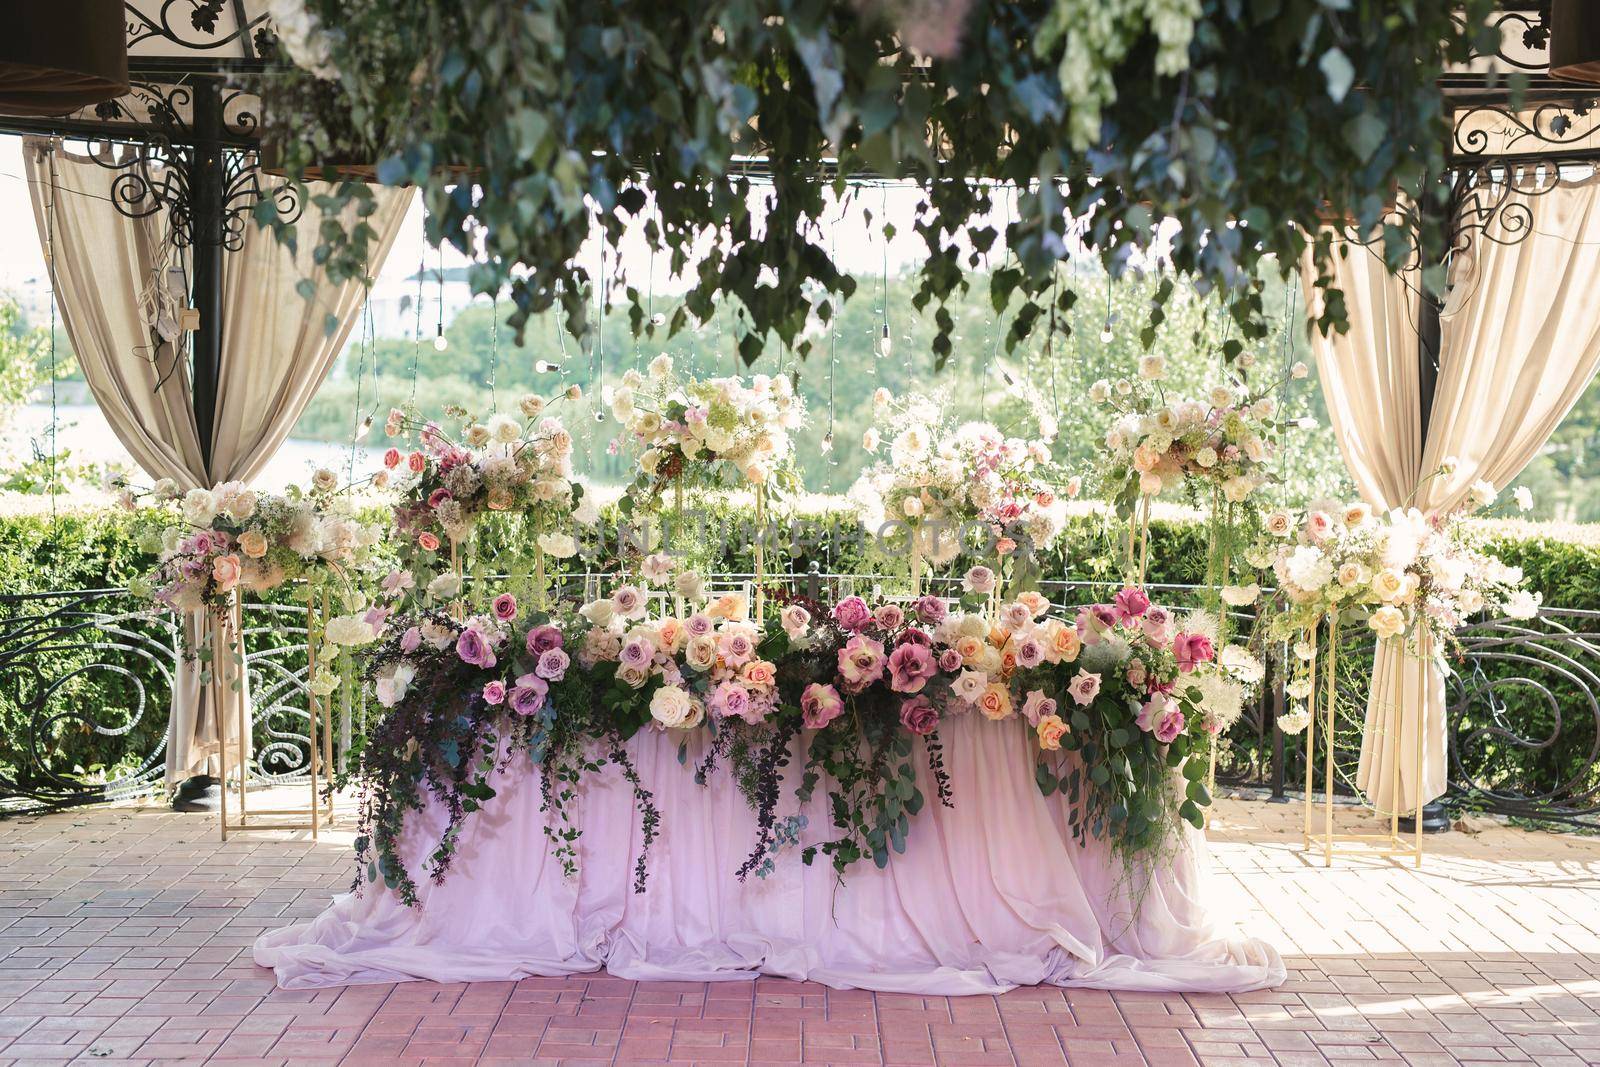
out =
[(416, 448), (384, 454), (384, 470), (397, 491), (395, 533), (400, 568), (384, 579), (395, 606), (408, 600), (450, 601), (462, 592), (466, 545), (477, 523), (491, 512), (522, 515), (528, 525), (533, 561), (526, 576), (531, 597), (547, 595), (547, 560), (578, 552), (573, 528), (600, 520), (594, 499), (573, 474), (573, 435), (552, 413), (560, 400), (582, 397), (571, 386), (555, 400), (526, 395), (517, 414), (496, 413), (482, 421), (459, 408), (446, 411), (461, 424), (451, 435), (434, 421), (395, 408), (384, 430), (416, 438)]

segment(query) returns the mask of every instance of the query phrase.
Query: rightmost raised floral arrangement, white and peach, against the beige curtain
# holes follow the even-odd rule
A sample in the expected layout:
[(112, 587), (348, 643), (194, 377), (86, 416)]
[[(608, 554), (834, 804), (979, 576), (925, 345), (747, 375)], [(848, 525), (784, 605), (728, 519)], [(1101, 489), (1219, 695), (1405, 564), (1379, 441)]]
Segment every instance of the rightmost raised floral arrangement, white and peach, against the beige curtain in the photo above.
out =
[[(1454, 470), (1446, 461), (1434, 475)], [(1266, 517), (1250, 561), (1270, 568), (1282, 603), (1269, 633), (1294, 646), (1291, 709), (1278, 718), (1285, 733), (1310, 721), (1306, 701), (1315, 686), (1318, 630), (1326, 622), (1325, 670), (1344, 622), (1363, 622), (1381, 641), (1403, 641), (1411, 654), (1430, 654), (1448, 673), (1445, 653), (1472, 616), (1494, 611), (1531, 619), (1539, 593), (1523, 589), (1520, 568), (1507, 566), (1482, 545), (1466, 523), (1490, 507), (1498, 491), (1477, 482), (1466, 499), (1445, 512), (1414, 507), (1374, 512), (1366, 504), (1312, 502), (1304, 514), (1277, 510)], [(1533, 499), (1517, 493), (1526, 510)]]

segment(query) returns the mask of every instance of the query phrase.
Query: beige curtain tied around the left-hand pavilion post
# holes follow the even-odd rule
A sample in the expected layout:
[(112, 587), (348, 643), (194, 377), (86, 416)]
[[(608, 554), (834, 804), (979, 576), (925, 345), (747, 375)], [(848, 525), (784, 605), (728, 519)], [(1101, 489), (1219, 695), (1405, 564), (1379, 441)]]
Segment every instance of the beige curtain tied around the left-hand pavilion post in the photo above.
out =
[[(312, 242), (301, 242), (296, 256), (246, 221), (243, 246), (224, 254), (222, 352), (208, 470), (184, 354), (155, 338), (149, 325), (150, 309), (163, 296), (168, 304), (174, 296), (184, 302), (176, 282), (182, 275), (168, 270), (184, 264), (166, 251), (165, 211), (123, 216), (112, 203), (123, 194), (115, 184), (120, 171), (69, 155), (53, 141), (27, 139), (24, 158), (61, 318), (117, 438), (152, 478), (173, 478), (184, 490), (253, 478), (326, 378), (355, 323), (362, 285), (328, 283), (310, 262)], [(410, 197), (408, 190), (378, 190), (374, 275)], [(315, 205), (307, 203), (301, 232), (315, 234), (320, 222)], [(342, 222), (354, 226), (355, 219)], [(317, 283), (309, 302), (296, 291), (306, 277)], [(325, 328), (330, 314), (338, 320), (331, 333)], [(203, 613), (182, 625), (189, 648), (210, 649), (210, 656), (182, 662), (173, 678), (170, 787), (203, 773), (224, 736), (234, 744), (240, 712), (248, 721), (250, 707), (238, 649), (224, 627)]]

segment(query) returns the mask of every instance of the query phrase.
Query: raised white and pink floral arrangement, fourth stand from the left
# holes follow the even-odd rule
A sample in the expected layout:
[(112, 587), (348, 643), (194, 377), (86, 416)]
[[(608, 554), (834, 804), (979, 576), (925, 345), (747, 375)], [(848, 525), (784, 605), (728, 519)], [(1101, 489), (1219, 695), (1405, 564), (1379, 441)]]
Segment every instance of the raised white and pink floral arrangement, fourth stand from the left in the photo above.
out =
[[(1066, 526), (1069, 480), (1056, 488), (1050, 443), (1053, 419), (1040, 418), (1034, 438), (1008, 437), (989, 422), (955, 424), (946, 397), (894, 398), (874, 394), (874, 426), (862, 448), (888, 456), (867, 467), (850, 490), (867, 530), (902, 526), (909, 534), (912, 590), (922, 568), (946, 566), (963, 547), (992, 552), (1002, 571), (1048, 549)], [(891, 429), (893, 427), (893, 429)], [(976, 544), (974, 544), (976, 542)]]

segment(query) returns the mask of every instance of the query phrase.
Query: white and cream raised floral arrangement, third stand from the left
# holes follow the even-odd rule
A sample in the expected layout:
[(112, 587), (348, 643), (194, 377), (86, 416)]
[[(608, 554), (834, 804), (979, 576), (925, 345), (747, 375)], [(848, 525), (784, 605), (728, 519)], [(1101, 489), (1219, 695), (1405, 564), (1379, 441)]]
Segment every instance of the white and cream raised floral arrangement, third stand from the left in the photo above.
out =
[(805, 424), (805, 400), (784, 376), (682, 378), (672, 357), (630, 370), (603, 402), (622, 434), (611, 443), (637, 453), (629, 499), (658, 502), (683, 482), (766, 488), (794, 482), (794, 440)]

